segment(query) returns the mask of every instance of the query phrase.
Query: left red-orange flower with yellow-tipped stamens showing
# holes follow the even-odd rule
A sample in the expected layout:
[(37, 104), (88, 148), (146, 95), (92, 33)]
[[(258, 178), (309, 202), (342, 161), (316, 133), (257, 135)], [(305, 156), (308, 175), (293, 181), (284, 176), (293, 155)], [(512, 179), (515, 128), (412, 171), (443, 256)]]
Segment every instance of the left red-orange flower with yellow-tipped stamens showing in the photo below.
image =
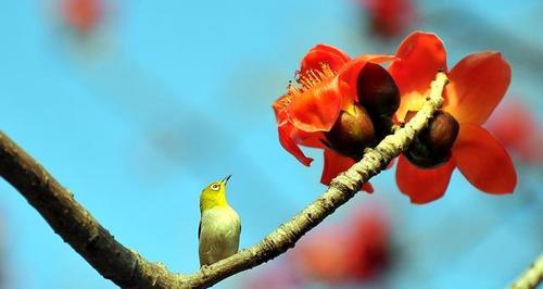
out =
[[(337, 48), (318, 45), (303, 58), (298, 85), (290, 85), (288, 92), (274, 102), (279, 141), (288, 152), (308, 166), (313, 159), (305, 156), (299, 144), (325, 150), (323, 184), (329, 185), (333, 177), (355, 163), (325, 143), (329, 141), (326, 134), (330, 133), (341, 113), (365, 113), (357, 105), (358, 74), (367, 63), (392, 59), (377, 54), (351, 59)], [(363, 189), (372, 191), (369, 184)]]

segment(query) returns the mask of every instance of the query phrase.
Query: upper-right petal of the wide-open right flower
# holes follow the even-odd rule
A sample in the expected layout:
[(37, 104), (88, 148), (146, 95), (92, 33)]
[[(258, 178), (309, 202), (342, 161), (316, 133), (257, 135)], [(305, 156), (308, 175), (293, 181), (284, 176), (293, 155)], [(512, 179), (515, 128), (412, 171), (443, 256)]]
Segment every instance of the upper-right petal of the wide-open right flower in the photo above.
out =
[(483, 124), (507, 91), (510, 66), (500, 52), (470, 54), (450, 73), (443, 106), (459, 123)]

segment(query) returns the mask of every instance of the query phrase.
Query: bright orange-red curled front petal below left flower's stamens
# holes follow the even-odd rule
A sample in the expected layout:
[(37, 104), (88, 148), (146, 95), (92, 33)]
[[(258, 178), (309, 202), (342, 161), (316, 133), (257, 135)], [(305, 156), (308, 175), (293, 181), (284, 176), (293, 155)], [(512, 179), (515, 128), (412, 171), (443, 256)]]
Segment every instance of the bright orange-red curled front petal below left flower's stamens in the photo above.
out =
[(327, 79), (292, 98), (288, 106), (291, 123), (305, 131), (328, 131), (342, 106), (338, 79)]

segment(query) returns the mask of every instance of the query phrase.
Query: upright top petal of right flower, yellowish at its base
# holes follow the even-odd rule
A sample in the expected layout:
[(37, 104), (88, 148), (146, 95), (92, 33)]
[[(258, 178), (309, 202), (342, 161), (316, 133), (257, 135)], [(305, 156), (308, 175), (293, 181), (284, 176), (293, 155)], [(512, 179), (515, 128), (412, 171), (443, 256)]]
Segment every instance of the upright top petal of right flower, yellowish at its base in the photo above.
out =
[(446, 51), (434, 34), (416, 32), (402, 41), (396, 58), (389, 72), (402, 96), (396, 117), (403, 121), (407, 111), (420, 109), (435, 74), (446, 71)]

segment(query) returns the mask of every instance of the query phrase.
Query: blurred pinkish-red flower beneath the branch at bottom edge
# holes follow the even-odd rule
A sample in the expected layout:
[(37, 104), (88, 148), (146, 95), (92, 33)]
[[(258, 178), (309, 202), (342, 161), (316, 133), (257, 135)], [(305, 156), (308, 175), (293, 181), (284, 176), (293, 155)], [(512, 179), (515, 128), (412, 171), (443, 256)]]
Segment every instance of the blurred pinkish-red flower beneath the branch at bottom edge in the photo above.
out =
[(391, 261), (391, 234), (386, 212), (364, 205), (341, 224), (312, 230), (283, 259), (243, 280), (243, 288), (304, 288), (371, 281)]

